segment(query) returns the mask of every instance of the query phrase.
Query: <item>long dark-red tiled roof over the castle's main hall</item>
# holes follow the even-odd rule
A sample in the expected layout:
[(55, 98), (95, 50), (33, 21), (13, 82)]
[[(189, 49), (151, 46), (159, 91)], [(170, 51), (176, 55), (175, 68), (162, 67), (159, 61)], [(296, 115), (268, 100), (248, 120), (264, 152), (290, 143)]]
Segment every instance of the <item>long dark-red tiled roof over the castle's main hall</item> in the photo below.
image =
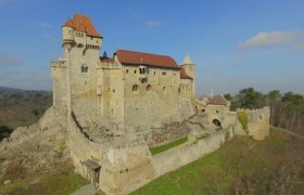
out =
[(142, 53), (127, 50), (118, 50), (114, 55), (118, 57), (118, 61), (122, 64), (179, 68), (175, 60), (166, 55)]

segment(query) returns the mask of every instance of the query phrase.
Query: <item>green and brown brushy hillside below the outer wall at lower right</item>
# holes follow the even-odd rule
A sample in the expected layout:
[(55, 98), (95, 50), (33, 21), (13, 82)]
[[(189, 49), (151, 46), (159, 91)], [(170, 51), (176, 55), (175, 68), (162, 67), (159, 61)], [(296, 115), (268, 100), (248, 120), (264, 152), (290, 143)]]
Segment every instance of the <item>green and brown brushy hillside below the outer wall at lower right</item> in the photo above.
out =
[(271, 129), (257, 142), (239, 136), (132, 194), (293, 194), (304, 192), (304, 142)]

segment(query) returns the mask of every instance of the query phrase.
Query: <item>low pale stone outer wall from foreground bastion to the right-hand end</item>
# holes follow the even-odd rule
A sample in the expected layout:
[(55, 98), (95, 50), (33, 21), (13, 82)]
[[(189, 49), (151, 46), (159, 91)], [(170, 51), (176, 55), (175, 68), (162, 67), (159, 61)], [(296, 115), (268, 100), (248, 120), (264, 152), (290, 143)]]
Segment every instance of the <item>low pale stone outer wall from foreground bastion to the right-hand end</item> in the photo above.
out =
[[(268, 134), (268, 129), (263, 128), (269, 127), (266, 126), (269, 120), (269, 107), (246, 112), (250, 119), (249, 135), (256, 140), (263, 140)], [(154, 156), (151, 156), (147, 145), (136, 142), (127, 145), (94, 143), (81, 132), (77, 120), (69, 117), (68, 145), (72, 159), (77, 171), (89, 179), (91, 179), (91, 173), (81, 161), (88, 159), (97, 161), (101, 166), (99, 187), (107, 194), (127, 194), (166, 172), (174, 171), (214, 152), (225, 142), (227, 133), (228, 138), (236, 134), (245, 135), (240, 122), (236, 121), (237, 113), (228, 115), (227, 120), (231, 121), (229, 121), (230, 126), (227, 129), (215, 131), (207, 138), (189, 139), (188, 143)]]

